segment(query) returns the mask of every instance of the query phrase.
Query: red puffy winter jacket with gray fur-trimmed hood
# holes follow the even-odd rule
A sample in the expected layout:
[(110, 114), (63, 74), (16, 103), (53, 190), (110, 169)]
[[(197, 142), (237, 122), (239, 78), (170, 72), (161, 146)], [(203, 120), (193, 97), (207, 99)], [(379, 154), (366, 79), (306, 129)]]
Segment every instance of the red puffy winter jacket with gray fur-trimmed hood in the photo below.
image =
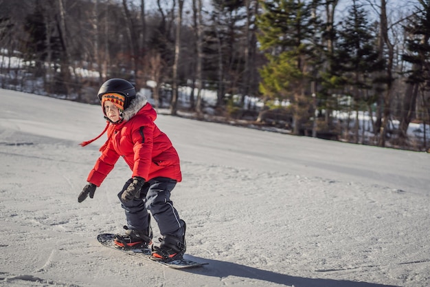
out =
[(122, 156), (133, 171), (132, 177), (139, 176), (146, 181), (163, 177), (180, 182), (178, 153), (168, 136), (155, 125), (155, 118), (155, 109), (146, 103), (144, 96), (138, 95), (124, 111), (122, 123), (109, 125), (108, 140), (87, 181), (100, 187)]

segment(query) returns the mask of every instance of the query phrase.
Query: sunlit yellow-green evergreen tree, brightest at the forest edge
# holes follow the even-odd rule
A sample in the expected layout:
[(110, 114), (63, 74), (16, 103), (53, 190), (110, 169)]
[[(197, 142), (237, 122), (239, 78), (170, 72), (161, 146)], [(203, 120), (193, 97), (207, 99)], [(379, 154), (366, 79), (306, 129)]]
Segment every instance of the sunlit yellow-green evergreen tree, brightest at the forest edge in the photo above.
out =
[(293, 132), (299, 134), (312, 114), (309, 90), (316, 59), (317, 1), (272, 0), (261, 5), (258, 40), (269, 62), (260, 72), (260, 92), (266, 100), (289, 100)]

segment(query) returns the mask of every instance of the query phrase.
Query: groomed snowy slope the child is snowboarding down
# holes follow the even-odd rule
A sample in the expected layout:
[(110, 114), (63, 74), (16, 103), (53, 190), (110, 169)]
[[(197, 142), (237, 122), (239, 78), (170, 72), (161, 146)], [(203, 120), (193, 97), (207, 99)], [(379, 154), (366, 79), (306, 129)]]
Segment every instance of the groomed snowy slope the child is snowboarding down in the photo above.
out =
[(78, 143), (104, 128), (100, 107), (0, 99), (0, 286), (430, 286), (428, 153), (160, 114), (187, 256), (209, 263), (172, 270), (96, 240), (125, 224), (124, 162), (78, 203), (105, 137)]

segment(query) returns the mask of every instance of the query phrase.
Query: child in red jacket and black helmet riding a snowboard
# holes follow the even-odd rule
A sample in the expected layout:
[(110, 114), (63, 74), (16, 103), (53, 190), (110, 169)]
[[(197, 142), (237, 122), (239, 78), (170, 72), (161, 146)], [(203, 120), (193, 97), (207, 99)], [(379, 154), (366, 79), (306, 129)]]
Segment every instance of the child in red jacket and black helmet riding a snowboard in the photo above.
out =
[(127, 226), (124, 226), (124, 235), (115, 235), (115, 244), (123, 248), (150, 246), (150, 211), (163, 236), (159, 238), (159, 246), (152, 246), (152, 258), (166, 262), (181, 259), (186, 248), (185, 222), (170, 200), (172, 189), (182, 179), (177, 151), (168, 136), (155, 125), (155, 109), (145, 96), (136, 93), (131, 83), (112, 78), (100, 87), (98, 98), (106, 127), (98, 137), (81, 145), (89, 145), (106, 131), (108, 136), (78, 202), (88, 195), (93, 198), (96, 187), (100, 187), (121, 156), (132, 175), (118, 193)]

